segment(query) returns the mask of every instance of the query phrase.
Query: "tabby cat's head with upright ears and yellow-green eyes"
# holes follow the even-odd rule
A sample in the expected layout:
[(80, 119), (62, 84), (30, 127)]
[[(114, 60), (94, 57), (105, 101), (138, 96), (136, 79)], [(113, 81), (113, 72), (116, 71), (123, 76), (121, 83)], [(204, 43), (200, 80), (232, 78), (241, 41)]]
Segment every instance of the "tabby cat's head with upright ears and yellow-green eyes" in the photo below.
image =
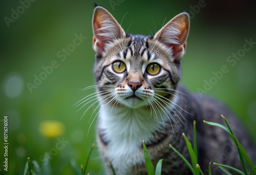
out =
[(188, 30), (189, 15), (180, 13), (155, 36), (129, 35), (106, 9), (96, 7), (94, 75), (100, 101), (137, 108), (173, 100)]

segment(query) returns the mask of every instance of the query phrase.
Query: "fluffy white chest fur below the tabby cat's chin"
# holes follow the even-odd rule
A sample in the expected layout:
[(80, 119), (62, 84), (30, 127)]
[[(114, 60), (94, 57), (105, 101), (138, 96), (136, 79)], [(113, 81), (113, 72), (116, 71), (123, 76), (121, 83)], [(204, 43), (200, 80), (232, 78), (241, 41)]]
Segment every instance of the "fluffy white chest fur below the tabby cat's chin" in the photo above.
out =
[(104, 108), (99, 113), (98, 127), (109, 141), (109, 151), (104, 152), (120, 174), (126, 174), (134, 164), (144, 162), (139, 151), (142, 140), (149, 140), (163, 126), (165, 119), (157, 119), (153, 112), (142, 108)]

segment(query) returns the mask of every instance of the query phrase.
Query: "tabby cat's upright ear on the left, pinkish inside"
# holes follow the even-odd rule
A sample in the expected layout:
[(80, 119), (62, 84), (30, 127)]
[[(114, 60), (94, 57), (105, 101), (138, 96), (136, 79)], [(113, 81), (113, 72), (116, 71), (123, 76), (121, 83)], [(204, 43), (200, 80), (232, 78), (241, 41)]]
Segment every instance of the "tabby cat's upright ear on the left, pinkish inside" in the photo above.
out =
[(110, 12), (97, 6), (93, 13), (93, 49), (102, 56), (107, 43), (125, 37), (125, 32)]

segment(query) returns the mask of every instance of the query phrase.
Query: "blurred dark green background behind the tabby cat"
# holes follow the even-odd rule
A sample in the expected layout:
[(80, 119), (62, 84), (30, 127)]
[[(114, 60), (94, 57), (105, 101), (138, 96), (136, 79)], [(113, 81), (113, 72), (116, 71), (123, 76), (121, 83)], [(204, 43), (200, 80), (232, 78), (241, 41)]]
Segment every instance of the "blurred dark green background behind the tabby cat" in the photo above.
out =
[[(128, 33), (144, 35), (159, 30), (165, 18), (166, 23), (178, 13), (191, 9), (181, 82), (191, 92), (197, 92), (198, 88), (204, 88), (204, 80), (214, 77), (212, 71), (220, 71), (226, 65), (229, 72), (212, 85), (207, 95), (223, 101), (239, 116), (255, 143), (256, 46), (246, 51), (236, 65), (227, 62), (228, 56), (243, 49), (245, 39), (256, 41), (256, 14), (249, 1), (205, 0), (202, 5), (199, 1), (95, 2), (108, 9), (119, 23), (129, 12), (122, 27), (126, 31), (131, 25)], [(88, 133), (92, 110), (80, 120), (86, 108), (76, 113), (77, 108), (72, 105), (94, 92), (79, 91), (94, 84), (93, 3), (34, 1), (28, 8), (22, 8), (23, 3), (17, 0), (1, 1), (2, 131), (4, 116), (9, 119), (9, 168), (4, 174), (23, 174), (27, 157), (36, 160), (40, 166), (50, 166), (51, 174), (74, 174), (70, 160), (76, 161), (77, 167), (86, 162), (89, 149), (96, 142), (96, 120)], [(17, 10), (20, 14), (12, 15)], [(9, 22), (6, 23), (7, 17)], [(15, 19), (10, 19), (12, 17)], [(73, 48), (70, 45), (76, 38), (75, 34), (86, 39)], [(67, 47), (72, 52), (62, 61), (63, 57), (57, 53)], [(50, 66), (54, 60), (58, 67), (52, 72), (48, 70), (49, 74), (42, 73), (45, 72), (42, 67)], [(34, 84), (34, 75), (40, 74), (44, 80), (30, 92), (27, 83)], [(4, 143), (3, 135), (1, 132), (1, 143)], [(58, 143), (57, 138), (68, 143)], [(0, 147), (0, 168), (3, 171), (5, 157), (3, 145)], [(50, 163), (42, 157), (45, 152), (50, 153)], [(93, 151), (87, 171), (104, 174), (97, 149)]]

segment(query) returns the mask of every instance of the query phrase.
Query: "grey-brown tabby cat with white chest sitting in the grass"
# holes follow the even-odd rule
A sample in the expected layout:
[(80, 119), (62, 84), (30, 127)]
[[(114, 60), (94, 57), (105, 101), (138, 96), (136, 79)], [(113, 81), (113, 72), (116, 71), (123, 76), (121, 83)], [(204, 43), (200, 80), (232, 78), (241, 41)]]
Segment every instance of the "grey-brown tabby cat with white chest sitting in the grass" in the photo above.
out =
[[(163, 159), (162, 174), (191, 174), (168, 145), (190, 161), (182, 133), (193, 144), (194, 120), (202, 171), (208, 174), (209, 162), (242, 170), (236, 145), (227, 132), (203, 123), (225, 125), (221, 114), (255, 163), (251, 139), (234, 115), (222, 103), (190, 94), (179, 83), (188, 13), (175, 16), (154, 36), (127, 34), (100, 6), (94, 9), (92, 25), (96, 85), (90, 88), (96, 88), (93, 95), (99, 101), (97, 144), (108, 174), (113, 174), (110, 162), (116, 174), (147, 174), (142, 140), (154, 168)], [(223, 174), (218, 166), (211, 169), (212, 174)]]

